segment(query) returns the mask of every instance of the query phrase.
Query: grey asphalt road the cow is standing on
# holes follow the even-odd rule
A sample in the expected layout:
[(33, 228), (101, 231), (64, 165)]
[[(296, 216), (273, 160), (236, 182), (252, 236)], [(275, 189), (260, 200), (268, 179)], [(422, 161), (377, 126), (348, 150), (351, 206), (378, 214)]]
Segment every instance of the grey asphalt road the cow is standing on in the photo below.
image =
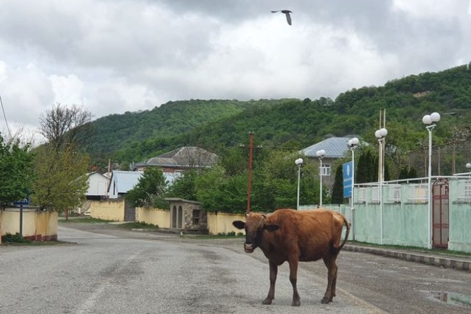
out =
[(268, 263), (242, 239), (182, 239), (108, 225), (70, 224), (70, 244), (0, 248), (0, 313), (470, 313), (445, 300), (471, 295), (471, 273), (343, 251), (337, 296), (320, 303), (322, 262), (300, 263), (301, 306), (290, 306), (288, 266), (275, 300)]

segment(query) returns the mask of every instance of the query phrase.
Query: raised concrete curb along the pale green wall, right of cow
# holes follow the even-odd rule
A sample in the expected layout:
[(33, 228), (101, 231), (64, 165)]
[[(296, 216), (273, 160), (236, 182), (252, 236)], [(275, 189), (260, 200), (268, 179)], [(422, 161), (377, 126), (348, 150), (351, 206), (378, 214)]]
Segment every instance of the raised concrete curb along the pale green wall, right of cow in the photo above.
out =
[(417, 253), (405, 253), (400, 251), (388, 251), (378, 248), (368, 248), (361, 246), (348, 246), (343, 247), (346, 251), (370, 253), (385, 257), (399, 258), (405, 261), (412, 261), (416, 263), (422, 263), (432, 266), (439, 266), (443, 268), (453, 268), (458, 271), (471, 271), (471, 261), (460, 260), (459, 258), (438, 257), (438, 256), (426, 256)]

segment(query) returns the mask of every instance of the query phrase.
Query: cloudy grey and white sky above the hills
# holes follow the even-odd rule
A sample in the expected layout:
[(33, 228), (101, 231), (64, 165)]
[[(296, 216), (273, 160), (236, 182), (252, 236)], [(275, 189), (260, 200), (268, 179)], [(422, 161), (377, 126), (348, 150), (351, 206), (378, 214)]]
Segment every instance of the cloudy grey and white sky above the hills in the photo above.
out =
[(97, 118), (191, 98), (335, 99), (470, 61), (470, 0), (1, 0), (13, 130), (54, 103)]

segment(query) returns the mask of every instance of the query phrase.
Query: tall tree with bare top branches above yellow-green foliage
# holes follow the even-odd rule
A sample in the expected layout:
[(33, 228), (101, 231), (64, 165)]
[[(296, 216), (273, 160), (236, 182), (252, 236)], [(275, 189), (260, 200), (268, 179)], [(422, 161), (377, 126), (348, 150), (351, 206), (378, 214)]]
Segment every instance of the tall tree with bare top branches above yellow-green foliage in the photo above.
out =
[(90, 159), (79, 148), (89, 136), (90, 120), (90, 112), (59, 103), (41, 115), (40, 132), (48, 142), (38, 149), (33, 197), (41, 208), (61, 212), (85, 199)]

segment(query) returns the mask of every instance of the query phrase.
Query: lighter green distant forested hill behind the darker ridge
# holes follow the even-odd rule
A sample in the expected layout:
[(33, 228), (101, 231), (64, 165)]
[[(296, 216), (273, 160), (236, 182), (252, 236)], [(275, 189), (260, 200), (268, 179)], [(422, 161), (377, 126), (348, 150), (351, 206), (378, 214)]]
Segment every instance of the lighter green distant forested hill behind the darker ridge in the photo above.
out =
[(153, 138), (171, 138), (206, 123), (243, 112), (249, 107), (272, 105), (280, 100), (182, 100), (168, 102), (153, 110), (108, 115), (91, 122), (96, 136), (88, 150), (95, 158), (108, 159), (118, 150)]

